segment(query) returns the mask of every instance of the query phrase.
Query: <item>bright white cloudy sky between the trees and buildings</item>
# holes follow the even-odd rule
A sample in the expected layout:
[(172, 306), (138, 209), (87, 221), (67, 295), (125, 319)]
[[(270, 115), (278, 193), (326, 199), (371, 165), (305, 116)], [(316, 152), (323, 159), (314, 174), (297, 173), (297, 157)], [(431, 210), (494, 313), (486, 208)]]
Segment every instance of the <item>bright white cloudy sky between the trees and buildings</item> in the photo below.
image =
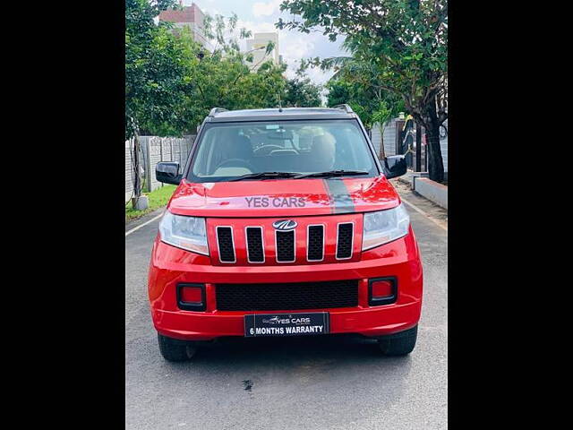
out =
[[(184, 5), (192, 3), (197, 4), (203, 13), (210, 15), (221, 14), (228, 17), (231, 13), (236, 13), (239, 20), (237, 30), (245, 27), (252, 32), (277, 31), (278, 54), (283, 56), (283, 60), (288, 65), (286, 76), (289, 78), (295, 75), (301, 58), (345, 55), (340, 48), (343, 38), (338, 38), (333, 43), (321, 32), (304, 34), (296, 30), (276, 29), (274, 24), (278, 22), (279, 17), (282, 17), (283, 21), (290, 21), (289, 18), (292, 18), (292, 15), (280, 12), (279, 6), (282, 0), (197, 0), (193, 2), (184, 0)], [(242, 43), (244, 48), (245, 42)], [(332, 72), (309, 69), (307, 75), (312, 82), (322, 84), (329, 80)]]

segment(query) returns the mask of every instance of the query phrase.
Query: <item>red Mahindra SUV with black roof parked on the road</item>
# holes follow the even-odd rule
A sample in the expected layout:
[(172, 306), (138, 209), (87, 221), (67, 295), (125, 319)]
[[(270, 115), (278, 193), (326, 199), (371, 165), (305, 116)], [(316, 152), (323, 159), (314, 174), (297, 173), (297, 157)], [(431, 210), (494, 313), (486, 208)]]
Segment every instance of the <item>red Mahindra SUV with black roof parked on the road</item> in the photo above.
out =
[(213, 108), (153, 245), (149, 297), (169, 361), (226, 336), (358, 333), (415, 347), (422, 263), (410, 219), (360, 119), (334, 108)]

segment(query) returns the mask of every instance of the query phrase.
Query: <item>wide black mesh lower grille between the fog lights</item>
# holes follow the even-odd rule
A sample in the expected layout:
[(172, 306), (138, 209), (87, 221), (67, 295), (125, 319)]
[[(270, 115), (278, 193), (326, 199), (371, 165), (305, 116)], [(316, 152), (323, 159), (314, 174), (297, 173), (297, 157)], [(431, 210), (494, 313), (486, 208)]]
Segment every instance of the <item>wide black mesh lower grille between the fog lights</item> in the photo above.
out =
[(355, 307), (358, 280), (280, 284), (217, 284), (221, 311), (281, 311)]

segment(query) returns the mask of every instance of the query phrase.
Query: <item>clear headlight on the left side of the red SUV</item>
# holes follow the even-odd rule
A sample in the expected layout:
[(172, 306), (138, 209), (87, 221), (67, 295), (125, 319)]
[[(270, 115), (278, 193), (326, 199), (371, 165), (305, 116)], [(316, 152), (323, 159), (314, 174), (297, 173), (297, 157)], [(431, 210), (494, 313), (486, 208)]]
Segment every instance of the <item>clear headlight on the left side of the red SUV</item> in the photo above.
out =
[(183, 217), (166, 211), (159, 223), (159, 235), (166, 244), (209, 255), (204, 218)]

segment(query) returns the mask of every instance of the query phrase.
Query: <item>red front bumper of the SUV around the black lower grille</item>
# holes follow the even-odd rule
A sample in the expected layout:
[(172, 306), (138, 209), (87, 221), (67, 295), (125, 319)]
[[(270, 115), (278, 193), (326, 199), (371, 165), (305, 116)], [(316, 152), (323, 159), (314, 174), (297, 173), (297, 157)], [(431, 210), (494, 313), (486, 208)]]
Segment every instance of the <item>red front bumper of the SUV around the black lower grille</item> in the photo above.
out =
[[(368, 280), (398, 279), (398, 297), (389, 305), (368, 305)], [(276, 312), (219, 311), (218, 283), (276, 283), (359, 280), (358, 306), (331, 309), (283, 309)], [(205, 312), (178, 308), (175, 288), (180, 282), (206, 286)], [(330, 333), (381, 336), (414, 327), (422, 306), (422, 263), (414, 232), (362, 254), (359, 262), (288, 266), (213, 266), (210, 258), (193, 254), (156, 239), (150, 262), (149, 297), (156, 330), (180, 340), (212, 340), (244, 336), (245, 314), (329, 312)]]

